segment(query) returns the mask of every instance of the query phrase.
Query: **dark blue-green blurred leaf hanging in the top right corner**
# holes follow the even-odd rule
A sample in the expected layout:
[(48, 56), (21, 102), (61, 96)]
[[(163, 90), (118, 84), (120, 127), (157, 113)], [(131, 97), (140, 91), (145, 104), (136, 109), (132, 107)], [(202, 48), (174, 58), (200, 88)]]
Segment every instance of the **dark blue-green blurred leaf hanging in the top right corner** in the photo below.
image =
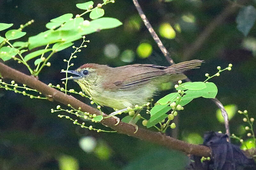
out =
[(237, 29), (241, 31), (245, 36), (248, 35), (256, 19), (256, 9), (252, 6), (246, 6), (241, 8), (237, 17)]

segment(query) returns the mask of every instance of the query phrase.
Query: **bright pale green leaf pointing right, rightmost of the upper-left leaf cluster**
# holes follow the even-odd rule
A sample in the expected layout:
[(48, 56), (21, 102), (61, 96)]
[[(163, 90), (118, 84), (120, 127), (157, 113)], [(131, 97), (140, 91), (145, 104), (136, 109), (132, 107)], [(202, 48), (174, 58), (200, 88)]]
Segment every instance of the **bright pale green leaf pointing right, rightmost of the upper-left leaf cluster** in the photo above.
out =
[(92, 20), (90, 24), (99, 25), (98, 29), (102, 30), (102, 29), (109, 29), (109, 28), (115, 28), (117, 26), (121, 26), (122, 22), (120, 22), (116, 18), (103, 17), (103, 18)]

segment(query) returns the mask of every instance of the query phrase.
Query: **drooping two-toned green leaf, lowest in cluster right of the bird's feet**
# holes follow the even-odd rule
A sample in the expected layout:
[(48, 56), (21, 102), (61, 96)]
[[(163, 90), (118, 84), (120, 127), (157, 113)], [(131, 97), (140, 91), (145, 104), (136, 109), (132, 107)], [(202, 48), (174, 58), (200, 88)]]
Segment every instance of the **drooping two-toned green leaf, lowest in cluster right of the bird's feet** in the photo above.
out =
[(150, 110), (150, 119), (148, 120), (147, 127), (154, 126), (156, 123), (162, 121), (165, 119), (168, 115), (165, 113), (171, 110), (172, 107), (168, 105), (155, 105), (151, 110)]

